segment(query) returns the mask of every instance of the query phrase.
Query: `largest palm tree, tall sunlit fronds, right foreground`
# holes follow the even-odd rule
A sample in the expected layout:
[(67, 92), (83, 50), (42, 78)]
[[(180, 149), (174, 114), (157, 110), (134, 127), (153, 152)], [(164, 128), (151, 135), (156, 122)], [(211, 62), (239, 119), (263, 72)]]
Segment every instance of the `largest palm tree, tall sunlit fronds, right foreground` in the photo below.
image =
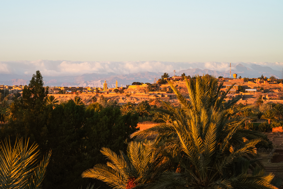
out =
[[(233, 108), (238, 97), (223, 103), (232, 86), (218, 98), (222, 84), (215, 77), (186, 79), (190, 98), (186, 100), (170, 83), (181, 107), (164, 102), (168, 110), (160, 112), (174, 121), (132, 134), (157, 135), (154, 146), (160, 145), (153, 171), (139, 180), (140, 188), (276, 188), (271, 184), (274, 175), (263, 175), (256, 153), (263, 135), (241, 129), (248, 118), (236, 116), (251, 106)], [(158, 144), (172, 134), (175, 139)]]

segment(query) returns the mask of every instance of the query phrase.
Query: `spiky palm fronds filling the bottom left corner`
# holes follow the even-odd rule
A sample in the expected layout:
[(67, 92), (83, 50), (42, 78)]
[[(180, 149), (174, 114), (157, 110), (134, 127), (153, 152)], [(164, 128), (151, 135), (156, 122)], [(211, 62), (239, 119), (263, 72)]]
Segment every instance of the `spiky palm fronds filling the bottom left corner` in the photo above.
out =
[(29, 145), (29, 139), (17, 139), (0, 143), (0, 186), (1, 188), (39, 189), (44, 178), (51, 151), (38, 163), (37, 144)]

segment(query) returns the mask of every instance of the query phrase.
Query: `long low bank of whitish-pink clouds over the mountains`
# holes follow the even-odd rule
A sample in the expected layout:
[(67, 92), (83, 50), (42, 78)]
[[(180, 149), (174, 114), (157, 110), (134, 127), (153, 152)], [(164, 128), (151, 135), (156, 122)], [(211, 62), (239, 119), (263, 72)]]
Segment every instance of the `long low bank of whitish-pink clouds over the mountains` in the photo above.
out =
[[(235, 67), (241, 63), (245, 67), (251, 68), (253, 65), (268, 66), (274, 70), (282, 70), (283, 62), (253, 62), (231, 63)], [(0, 73), (2, 74), (17, 74), (17, 75), (32, 75), (35, 71), (40, 70), (43, 76), (78, 76), (86, 73), (125, 75), (141, 72), (168, 72), (185, 69), (210, 69), (216, 71), (228, 71), (230, 62), (162, 62), (162, 61), (66, 61), (66, 60), (36, 60), (36, 61), (0, 61)]]

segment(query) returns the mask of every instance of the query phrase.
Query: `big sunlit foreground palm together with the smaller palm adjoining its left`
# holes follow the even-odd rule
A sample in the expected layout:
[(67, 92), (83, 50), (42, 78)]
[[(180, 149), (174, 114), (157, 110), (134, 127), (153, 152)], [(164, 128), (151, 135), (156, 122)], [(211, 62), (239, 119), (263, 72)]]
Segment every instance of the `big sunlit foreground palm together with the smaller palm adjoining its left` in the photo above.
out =
[[(170, 84), (179, 107), (163, 102), (159, 116), (170, 121), (133, 133), (152, 143), (129, 143), (127, 154), (103, 148), (110, 161), (83, 172), (114, 188), (276, 188), (274, 175), (264, 174), (256, 145), (268, 146), (258, 131), (244, 129), (252, 105), (224, 101), (214, 77), (186, 80), (190, 100)], [(246, 112), (246, 113), (245, 113)], [(161, 116), (163, 115), (163, 116)], [(278, 184), (279, 183), (279, 184)], [(280, 182), (277, 182), (280, 186)]]

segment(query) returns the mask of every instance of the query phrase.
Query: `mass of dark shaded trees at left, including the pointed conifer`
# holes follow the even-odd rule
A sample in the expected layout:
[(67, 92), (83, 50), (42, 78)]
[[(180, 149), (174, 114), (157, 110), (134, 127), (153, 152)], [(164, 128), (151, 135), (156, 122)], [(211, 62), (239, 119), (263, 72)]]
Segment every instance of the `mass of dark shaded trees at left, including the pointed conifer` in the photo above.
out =
[(91, 182), (100, 186), (101, 182), (80, 175), (105, 163), (99, 151), (102, 147), (126, 152), (130, 134), (137, 130), (138, 113), (122, 115), (119, 107), (98, 103), (85, 107), (78, 96), (58, 104), (53, 97), (46, 97), (43, 85), (37, 71), (24, 87), (23, 96), (10, 104), (10, 113), (5, 112), (8, 123), (1, 125), (0, 139), (10, 138), (13, 143), (17, 138), (29, 138), (42, 155), (52, 150), (42, 188), (77, 189)]

